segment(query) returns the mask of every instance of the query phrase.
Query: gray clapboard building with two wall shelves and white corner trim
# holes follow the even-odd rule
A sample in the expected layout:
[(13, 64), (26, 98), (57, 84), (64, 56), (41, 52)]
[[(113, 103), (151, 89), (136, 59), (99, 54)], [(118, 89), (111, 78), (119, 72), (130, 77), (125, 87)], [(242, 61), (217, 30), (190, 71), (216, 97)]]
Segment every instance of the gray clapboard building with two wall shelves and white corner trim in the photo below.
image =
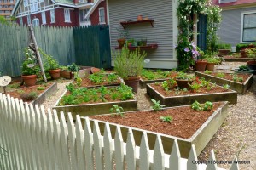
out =
[[(107, 0), (110, 47), (113, 54), (120, 50), (117, 42), (119, 31), (128, 31), (129, 39), (147, 39), (147, 46), (141, 48), (146, 51), (147, 59), (150, 60), (145, 63), (145, 67), (176, 68), (177, 7), (177, 0)], [(139, 15), (142, 15), (142, 21), (137, 21)]]

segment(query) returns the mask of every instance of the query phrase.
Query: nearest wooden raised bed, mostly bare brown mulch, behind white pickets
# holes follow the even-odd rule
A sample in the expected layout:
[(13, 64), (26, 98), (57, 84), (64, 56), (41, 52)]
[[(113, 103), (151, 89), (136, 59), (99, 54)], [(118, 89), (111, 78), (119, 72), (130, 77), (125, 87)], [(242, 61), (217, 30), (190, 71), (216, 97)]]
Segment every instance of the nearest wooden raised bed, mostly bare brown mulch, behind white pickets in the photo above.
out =
[[(143, 132), (148, 135), (148, 145), (154, 149), (156, 135), (160, 133), (164, 151), (170, 154), (174, 139), (177, 139), (181, 156), (187, 158), (192, 144), (197, 155), (205, 148), (227, 116), (227, 102), (213, 103), (212, 111), (194, 111), (189, 106), (166, 108), (163, 111), (132, 111), (120, 116), (90, 116), (90, 122), (99, 122), (101, 133), (109, 122), (114, 138), (117, 126), (121, 128), (124, 141), (131, 127), (135, 143), (139, 146)], [(172, 122), (160, 122), (160, 116), (172, 116)]]

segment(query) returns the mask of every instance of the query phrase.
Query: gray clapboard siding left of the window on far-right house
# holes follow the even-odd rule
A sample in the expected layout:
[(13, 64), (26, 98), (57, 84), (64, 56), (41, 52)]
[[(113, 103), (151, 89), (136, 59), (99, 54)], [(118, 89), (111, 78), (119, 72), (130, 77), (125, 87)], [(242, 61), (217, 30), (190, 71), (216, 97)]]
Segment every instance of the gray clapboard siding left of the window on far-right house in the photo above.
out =
[(239, 8), (222, 11), (222, 22), (218, 30), (220, 40), (236, 46), (241, 41), (241, 14), (256, 8)]

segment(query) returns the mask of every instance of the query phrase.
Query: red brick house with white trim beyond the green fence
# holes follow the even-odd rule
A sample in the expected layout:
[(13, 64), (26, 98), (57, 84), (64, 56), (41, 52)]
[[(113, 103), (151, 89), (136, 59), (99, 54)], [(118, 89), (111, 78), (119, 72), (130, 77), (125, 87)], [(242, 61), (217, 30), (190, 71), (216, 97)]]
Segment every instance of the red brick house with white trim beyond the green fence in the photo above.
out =
[[(91, 7), (96, 10), (84, 19)], [(102, 0), (17, 0), (12, 15), (19, 24), (33, 26), (106, 25), (106, 2)]]

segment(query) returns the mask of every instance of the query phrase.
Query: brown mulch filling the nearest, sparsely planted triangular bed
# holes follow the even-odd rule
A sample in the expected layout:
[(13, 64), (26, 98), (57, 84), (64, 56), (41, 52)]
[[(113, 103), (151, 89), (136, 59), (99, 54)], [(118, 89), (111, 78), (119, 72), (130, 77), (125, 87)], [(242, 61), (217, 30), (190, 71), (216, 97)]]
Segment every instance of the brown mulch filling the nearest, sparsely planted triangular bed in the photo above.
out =
[[(136, 111), (126, 113), (124, 117), (102, 115), (90, 118), (189, 139), (220, 105), (222, 103), (214, 103), (211, 111), (194, 111), (190, 106), (183, 106), (163, 111)], [(160, 116), (172, 116), (172, 122), (161, 122)]]

